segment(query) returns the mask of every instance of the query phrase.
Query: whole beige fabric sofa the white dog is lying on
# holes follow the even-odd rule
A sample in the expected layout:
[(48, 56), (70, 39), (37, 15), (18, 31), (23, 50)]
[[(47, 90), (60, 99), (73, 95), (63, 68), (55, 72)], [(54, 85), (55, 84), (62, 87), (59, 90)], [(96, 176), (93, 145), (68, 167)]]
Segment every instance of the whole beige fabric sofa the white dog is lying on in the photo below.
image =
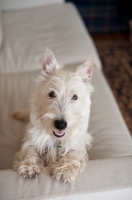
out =
[[(132, 199), (132, 139), (101, 72), (94, 43), (74, 7), (68, 3), (2, 12), (0, 49), (0, 199)], [(52, 49), (67, 69), (88, 57), (94, 61), (89, 132), (94, 142), (87, 169), (68, 184), (42, 173), (24, 179), (13, 169), (26, 125), (11, 114), (29, 106), (44, 51)]]

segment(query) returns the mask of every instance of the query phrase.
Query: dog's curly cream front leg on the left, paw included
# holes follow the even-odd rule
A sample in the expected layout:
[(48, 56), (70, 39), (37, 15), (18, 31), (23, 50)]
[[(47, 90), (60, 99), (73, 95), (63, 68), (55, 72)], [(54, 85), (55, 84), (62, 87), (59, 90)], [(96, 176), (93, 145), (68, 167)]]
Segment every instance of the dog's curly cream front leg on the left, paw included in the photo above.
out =
[(16, 154), (13, 168), (24, 178), (32, 178), (44, 171), (44, 162), (35, 150), (21, 150)]

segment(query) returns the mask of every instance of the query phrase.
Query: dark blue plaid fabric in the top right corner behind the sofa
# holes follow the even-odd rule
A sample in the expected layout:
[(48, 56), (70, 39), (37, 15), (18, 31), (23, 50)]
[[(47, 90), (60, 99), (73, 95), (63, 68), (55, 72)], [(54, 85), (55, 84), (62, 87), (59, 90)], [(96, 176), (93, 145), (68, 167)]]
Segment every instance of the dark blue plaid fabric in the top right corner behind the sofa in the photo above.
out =
[(90, 33), (128, 33), (131, 0), (66, 0), (73, 2)]

